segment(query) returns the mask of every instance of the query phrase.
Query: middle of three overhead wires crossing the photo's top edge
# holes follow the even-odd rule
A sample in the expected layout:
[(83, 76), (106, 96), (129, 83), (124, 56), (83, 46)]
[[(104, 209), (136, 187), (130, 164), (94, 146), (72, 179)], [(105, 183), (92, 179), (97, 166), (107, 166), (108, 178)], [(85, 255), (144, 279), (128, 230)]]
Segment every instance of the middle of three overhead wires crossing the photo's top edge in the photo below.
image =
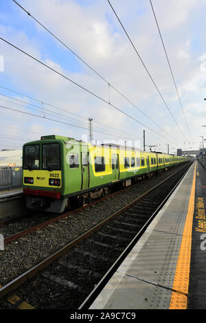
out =
[[(14, 0), (13, 0), (14, 1)], [(120, 21), (119, 19), (119, 16), (117, 16), (117, 13), (115, 12), (115, 9), (113, 8), (113, 6), (111, 5), (111, 2), (109, 0), (108, 1), (108, 4), (111, 6), (111, 9), (113, 10), (115, 16), (117, 17), (117, 20), (119, 21), (120, 25), (122, 26), (126, 36), (128, 37), (128, 40), (130, 41), (131, 45), (133, 46), (133, 49), (135, 49), (135, 52), (137, 54), (137, 56), (139, 57), (139, 59), (141, 60), (141, 63), (142, 65), (144, 66), (144, 68), (146, 69), (146, 72), (148, 73), (148, 76), (150, 77), (150, 80), (152, 80), (152, 83), (155, 85), (155, 88), (157, 89), (158, 93), (159, 93), (159, 96), (161, 96), (161, 99), (163, 100), (164, 104), (165, 104), (165, 107), (167, 107), (168, 111), (170, 112), (170, 115), (172, 116), (172, 119), (174, 120), (174, 122), (176, 123), (176, 126), (178, 126), (179, 128), (179, 131), (181, 131), (181, 128), (179, 126), (179, 124), (176, 122), (175, 118), (174, 118), (174, 115), (172, 114), (172, 111), (170, 110), (170, 108), (168, 107), (168, 104), (165, 102), (165, 99), (163, 98), (161, 92), (159, 91), (159, 88), (157, 87), (156, 83), (155, 83), (155, 80), (152, 78), (151, 74), (150, 74), (150, 71), (148, 71), (148, 68), (146, 67), (144, 61), (142, 60), (141, 56), (139, 55), (139, 52), (137, 52), (137, 49), (133, 43), (133, 41), (131, 40), (130, 36), (128, 35), (128, 33), (126, 32), (126, 29), (124, 27), (124, 25), (122, 24), (122, 21)], [(181, 131), (181, 134), (183, 135), (183, 137), (185, 137), (185, 135), (183, 134), (183, 132)], [(186, 137), (185, 137), (186, 138)], [(186, 138), (187, 140), (187, 138)]]

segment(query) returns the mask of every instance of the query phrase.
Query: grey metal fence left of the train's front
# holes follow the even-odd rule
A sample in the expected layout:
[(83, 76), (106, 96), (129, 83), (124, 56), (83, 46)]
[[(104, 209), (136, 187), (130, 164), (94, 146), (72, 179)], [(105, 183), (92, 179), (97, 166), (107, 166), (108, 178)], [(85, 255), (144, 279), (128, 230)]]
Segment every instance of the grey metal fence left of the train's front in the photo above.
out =
[(0, 190), (4, 188), (21, 188), (22, 167), (0, 166)]

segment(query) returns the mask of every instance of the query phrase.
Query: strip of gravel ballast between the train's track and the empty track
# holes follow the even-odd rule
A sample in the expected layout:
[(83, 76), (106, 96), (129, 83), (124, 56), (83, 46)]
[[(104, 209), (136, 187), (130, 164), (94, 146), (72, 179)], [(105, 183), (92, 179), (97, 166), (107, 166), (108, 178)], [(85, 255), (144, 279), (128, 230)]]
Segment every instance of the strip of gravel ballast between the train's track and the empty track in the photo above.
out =
[[(89, 208), (84, 208), (80, 212), (71, 214), (66, 219), (46, 225), (40, 230), (8, 243), (5, 245), (5, 250), (0, 251), (0, 285), (5, 285), (49, 256), (49, 254), (56, 252), (62, 246), (84, 234), (91, 227), (117, 212), (117, 210), (123, 208), (182, 167), (181, 165), (158, 176), (153, 176), (139, 183), (136, 187), (131, 187), (113, 197), (91, 205)], [(10, 234), (7, 230), (10, 230), (8, 226), (0, 227), (0, 233), (6, 236)]]

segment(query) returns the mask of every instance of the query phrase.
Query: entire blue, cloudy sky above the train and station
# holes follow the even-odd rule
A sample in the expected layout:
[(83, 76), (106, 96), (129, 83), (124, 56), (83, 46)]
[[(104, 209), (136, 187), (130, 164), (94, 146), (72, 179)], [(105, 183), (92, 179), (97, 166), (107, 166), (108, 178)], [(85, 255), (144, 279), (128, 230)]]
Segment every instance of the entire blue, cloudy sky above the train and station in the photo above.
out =
[(149, 0), (111, 0), (137, 52), (107, 0), (17, 2), (71, 50), (14, 1), (0, 0), (0, 37), (47, 65), (0, 39), (0, 150), (41, 135), (89, 141), (89, 118), (94, 142), (142, 149), (145, 130), (148, 151), (200, 148), (206, 0), (152, 0), (182, 107)]

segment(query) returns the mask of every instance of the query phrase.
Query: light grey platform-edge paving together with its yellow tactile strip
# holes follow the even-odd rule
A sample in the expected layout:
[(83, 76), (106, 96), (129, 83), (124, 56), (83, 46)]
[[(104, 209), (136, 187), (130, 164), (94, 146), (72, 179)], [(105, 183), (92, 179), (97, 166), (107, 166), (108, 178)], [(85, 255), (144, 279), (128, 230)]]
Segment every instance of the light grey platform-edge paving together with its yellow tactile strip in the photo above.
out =
[(188, 308), (195, 180), (196, 161), (90, 309)]

